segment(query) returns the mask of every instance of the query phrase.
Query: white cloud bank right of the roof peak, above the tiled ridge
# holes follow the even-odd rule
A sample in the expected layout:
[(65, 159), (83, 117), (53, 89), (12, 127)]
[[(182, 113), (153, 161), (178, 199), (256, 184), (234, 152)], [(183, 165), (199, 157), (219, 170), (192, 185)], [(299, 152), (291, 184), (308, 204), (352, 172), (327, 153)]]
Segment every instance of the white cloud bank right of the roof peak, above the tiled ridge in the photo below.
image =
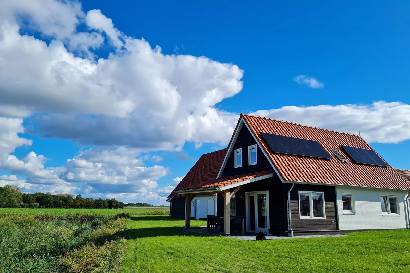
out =
[(330, 130), (360, 134), (367, 142), (410, 139), (410, 105), (378, 101), (371, 105), (285, 106), (251, 113)]

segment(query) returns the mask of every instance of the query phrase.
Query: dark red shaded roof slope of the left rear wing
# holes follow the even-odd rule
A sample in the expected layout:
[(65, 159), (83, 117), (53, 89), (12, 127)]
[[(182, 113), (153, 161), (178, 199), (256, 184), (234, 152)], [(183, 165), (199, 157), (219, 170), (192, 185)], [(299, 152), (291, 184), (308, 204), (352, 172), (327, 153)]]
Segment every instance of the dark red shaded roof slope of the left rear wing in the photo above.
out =
[[(191, 170), (189, 170), (187, 175), (182, 178), (181, 182), (177, 185), (177, 187), (175, 187), (174, 191), (190, 188), (190, 186), (194, 184), (203, 185), (206, 184), (205, 182), (207, 181), (215, 180), (218, 175), (219, 168), (221, 168), (223, 159), (225, 158), (226, 150), (227, 149), (225, 148), (202, 155)], [(177, 196), (174, 191), (168, 196), (168, 198)]]

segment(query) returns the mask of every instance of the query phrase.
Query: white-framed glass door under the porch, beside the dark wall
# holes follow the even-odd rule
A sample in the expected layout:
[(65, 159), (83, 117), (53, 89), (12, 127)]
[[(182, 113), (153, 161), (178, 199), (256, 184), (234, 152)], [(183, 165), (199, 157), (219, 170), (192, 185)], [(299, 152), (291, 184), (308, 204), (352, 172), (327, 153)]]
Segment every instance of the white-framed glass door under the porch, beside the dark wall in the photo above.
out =
[(246, 230), (266, 232), (269, 230), (268, 191), (246, 193)]

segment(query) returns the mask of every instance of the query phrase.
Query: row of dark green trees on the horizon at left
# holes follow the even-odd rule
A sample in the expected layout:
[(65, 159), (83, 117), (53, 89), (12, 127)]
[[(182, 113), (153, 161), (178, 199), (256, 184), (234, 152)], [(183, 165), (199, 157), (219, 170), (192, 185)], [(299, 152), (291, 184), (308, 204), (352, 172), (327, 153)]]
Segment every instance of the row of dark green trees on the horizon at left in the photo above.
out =
[[(147, 203), (136, 204), (152, 206)], [(81, 194), (74, 198), (74, 195), (69, 193), (22, 193), (21, 188), (16, 185), (0, 187), (0, 208), (107, 209), (114, 207), (122, 209), (124, 206), (123, 202), (115, 198), (83, 198)]]

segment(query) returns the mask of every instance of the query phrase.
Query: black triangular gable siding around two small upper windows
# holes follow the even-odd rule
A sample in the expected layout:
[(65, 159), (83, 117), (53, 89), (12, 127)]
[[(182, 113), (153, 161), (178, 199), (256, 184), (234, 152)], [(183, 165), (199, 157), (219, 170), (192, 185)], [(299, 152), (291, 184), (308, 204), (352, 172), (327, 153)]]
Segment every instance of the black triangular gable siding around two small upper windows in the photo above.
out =
[[(255, 139), (249, 132), (248, 128), (243, 125), (226, 161), (222, 177), (273, 170), (259, 146), (256, 146), (257, 164), (249, 166), (248, 147), (255, 144)], [(235, 150), (239, 148), (242, 148), (242, 167), (235, 168)]]

